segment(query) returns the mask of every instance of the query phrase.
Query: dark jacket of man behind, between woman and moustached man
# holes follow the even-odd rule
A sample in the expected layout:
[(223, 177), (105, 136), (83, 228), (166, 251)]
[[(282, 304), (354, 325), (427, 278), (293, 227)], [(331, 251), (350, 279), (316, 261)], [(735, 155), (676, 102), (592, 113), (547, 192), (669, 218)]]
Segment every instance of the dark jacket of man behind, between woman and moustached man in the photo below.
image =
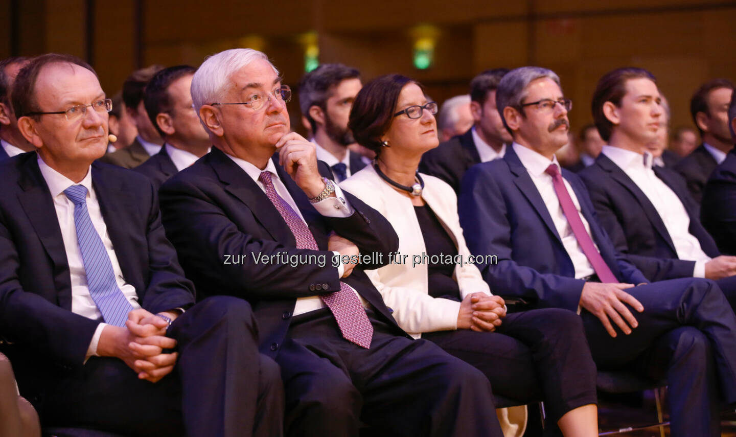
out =
[(478, 149), (473, 141), (473, 129), (456, 135), (425, 152), (419, 165), (422, 173), (431, 174), (444, 180), (456, 193), (460, 192), (460, 182), (468, 168), (481, 162)]

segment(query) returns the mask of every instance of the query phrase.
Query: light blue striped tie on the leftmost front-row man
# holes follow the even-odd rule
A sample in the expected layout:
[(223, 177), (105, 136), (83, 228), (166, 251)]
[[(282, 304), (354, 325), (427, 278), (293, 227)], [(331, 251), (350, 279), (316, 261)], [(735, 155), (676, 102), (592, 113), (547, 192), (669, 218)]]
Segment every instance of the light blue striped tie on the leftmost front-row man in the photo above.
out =
[(84, 185), (71, 185), (64, 190), (64, 194), (74, 202), (74, 226), (77, 227), (77, 242), (82, 251), (92, 299), (106, 323), (125, 326), (133, 307), (115, 281), (113, 264), (107, 256), (105, 244), (102, 244), (102, 238), (99, 238), (87, 212), (87, 188)]

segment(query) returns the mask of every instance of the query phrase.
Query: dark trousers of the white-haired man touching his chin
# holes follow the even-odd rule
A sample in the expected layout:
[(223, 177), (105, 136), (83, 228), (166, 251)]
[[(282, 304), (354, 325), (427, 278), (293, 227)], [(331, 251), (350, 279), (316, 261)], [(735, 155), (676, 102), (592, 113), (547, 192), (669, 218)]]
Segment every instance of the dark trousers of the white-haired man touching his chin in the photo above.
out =
[(502, 436), (490, 384), (426, 340), (392, 333), (367, 311), (370, 349), (342, 338), (327, 309), (294, 318), (277, 355), (287, 436)]

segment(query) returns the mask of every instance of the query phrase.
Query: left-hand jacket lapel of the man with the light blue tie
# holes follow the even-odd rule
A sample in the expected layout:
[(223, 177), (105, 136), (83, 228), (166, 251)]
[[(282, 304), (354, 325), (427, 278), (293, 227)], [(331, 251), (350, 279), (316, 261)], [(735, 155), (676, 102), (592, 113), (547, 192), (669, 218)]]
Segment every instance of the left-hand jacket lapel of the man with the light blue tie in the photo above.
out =
[(54, 285), (57, 290), (58, 304), (62, 308), (71, 310), (69, 264), (54, 200), (38, 168), (36, 154), (29, 154), (23, 159), (26, 160), (26, 163), (23, 164), (21, 170), (23, 174), (18, 181), (23, 193), (18, 193), (18, 201), (21, 202), (28, 221), (54, 265)]

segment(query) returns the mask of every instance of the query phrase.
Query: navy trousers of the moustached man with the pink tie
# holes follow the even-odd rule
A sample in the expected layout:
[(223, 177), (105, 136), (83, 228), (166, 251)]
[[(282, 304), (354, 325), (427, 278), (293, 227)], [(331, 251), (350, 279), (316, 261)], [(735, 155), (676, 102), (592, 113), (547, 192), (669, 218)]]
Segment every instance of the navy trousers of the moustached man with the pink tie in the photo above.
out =
[[(672, 436), (718, 436), (712, 433), (718, 401), (736, 402), (736, 316), (723, 292), (710, 280), (693, 278), (626, 292), (644, 305), (643, 313), (629, 308), (639, 324), (630, 335), (616, 328), (612, 338), (597, 317), (581, 314), (598, 369), (666, 375)], [(708, 380), (709, 369), (715, 369), (715, 383)]]

